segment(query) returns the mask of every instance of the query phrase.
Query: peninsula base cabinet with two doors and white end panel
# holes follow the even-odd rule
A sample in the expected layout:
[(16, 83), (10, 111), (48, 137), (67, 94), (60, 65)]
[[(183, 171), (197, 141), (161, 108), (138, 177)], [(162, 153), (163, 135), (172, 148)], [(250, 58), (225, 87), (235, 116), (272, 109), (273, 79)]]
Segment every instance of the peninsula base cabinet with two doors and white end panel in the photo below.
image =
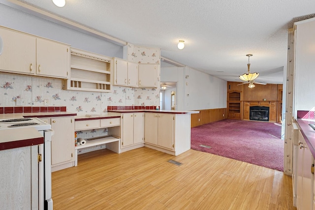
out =
[(178, 155), (190, 149), (189, 114), (145, 114), (145, 146)]

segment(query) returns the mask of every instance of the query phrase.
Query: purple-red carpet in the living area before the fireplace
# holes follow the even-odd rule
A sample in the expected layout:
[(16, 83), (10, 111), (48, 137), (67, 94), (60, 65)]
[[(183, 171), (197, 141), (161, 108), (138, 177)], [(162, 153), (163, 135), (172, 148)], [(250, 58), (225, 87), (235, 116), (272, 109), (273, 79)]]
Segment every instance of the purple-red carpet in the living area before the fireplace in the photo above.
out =
[(191, 149), (284, 171), (279, 123), (220, 120), (193, 127)]

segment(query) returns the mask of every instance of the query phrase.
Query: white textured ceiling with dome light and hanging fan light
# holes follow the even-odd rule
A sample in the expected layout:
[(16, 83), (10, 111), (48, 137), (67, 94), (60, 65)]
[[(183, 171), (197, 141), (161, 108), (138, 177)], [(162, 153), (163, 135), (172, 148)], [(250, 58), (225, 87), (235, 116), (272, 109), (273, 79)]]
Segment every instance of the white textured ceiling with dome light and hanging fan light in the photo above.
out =
[[(3, 0), (2, 0), (3, 1)], [(14, 2), (15, 0), (7, 0)], [(259, 72), (256, 82), (283, 83), (287, 30), (314, 17), (315, 0), (19, 0), (214, 75), (240, 81)], [(185, 48), (177, 49), (179, 40)]]

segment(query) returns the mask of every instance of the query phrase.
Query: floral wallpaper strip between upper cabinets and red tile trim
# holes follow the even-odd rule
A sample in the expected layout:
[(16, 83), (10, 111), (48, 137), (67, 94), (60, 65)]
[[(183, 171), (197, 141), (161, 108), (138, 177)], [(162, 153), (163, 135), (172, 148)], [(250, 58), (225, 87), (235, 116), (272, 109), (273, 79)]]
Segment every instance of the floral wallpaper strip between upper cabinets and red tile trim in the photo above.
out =
[(101, 114), (107, 106), (158, 106), (159, 90), (121, 86), (113, 86), (112, 92), (63, 90), (61, 79), (0, 73), (0, 107), (19, 107), (19, 98), (23, 107), (65, 106), (67, 112), (86, 115)]

